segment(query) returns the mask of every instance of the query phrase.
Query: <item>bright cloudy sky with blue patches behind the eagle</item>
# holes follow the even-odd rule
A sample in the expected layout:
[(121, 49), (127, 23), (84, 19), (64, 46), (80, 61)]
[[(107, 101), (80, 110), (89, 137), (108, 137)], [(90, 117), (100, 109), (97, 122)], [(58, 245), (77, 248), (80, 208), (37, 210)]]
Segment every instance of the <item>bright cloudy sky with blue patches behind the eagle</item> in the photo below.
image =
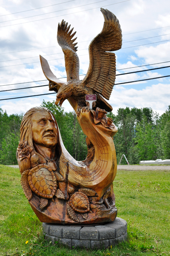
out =
[[(89, 44), (103, 28), (101, 7), (116, 15), (122, 29), (122, 48), (115, 51), (116, 74), (170, 66), (168, 0), (0, 0), (0, 99), (5, 99), (0, 100), (0, 108), (3, 111), (9, 115), (25, 113), (40, 106), (43, 99), (55, 100), (56, 94), (9, 99), (50, 93), (48, 86), (4, 90), (48, 84), (39, 55), (47, 59), (55, 76), (66, 77), (64, 55), (56, 38), (62, 19), (77, 31), (80, 74), (86, 74)], [(115, 84), (168, 75), (169, 67), (149, 70), (117, 76)], [(170, 105), (170, 77), (115, 85), (109, 104), (114, 114), (118, 108), (149, 107), (161, 115)], [(67, 112), (73, 111), (67, 100), (62, 106)]]

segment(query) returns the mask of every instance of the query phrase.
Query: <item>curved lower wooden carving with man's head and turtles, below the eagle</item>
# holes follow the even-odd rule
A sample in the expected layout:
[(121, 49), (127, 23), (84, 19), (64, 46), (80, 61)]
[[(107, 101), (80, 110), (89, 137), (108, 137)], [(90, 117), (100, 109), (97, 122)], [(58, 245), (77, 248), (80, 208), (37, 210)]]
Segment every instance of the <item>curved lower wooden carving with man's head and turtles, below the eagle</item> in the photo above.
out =
[[(21, 185), (40, 221), (88, 224), (113, 221), (116, 217), (112, 181), (117, 162), (112, 136), (117, 128), (113, 123), (108, 126), (105, 111), (99, 108), (97, 112), (83, 108), (78, 119), (88, 136), (88, 150), (92, 152), (81, 162), (66, 151), (57, 122), (50, 111), (33, 108), (21, 122), (17, 160), (26, 163), (24, 161), (27, 159), (31, 166), (31, 169), (23, 172)], [(37, 143), (45, 143), (47, 148), (36, 146), (34, 132), (37, 131), (40, 131)], [(44, 136), (47, 136), (46, 140)], [(52, 156), (51, 159), (47, 153)], [(22, 172), (23, 165), (21, 168)]]

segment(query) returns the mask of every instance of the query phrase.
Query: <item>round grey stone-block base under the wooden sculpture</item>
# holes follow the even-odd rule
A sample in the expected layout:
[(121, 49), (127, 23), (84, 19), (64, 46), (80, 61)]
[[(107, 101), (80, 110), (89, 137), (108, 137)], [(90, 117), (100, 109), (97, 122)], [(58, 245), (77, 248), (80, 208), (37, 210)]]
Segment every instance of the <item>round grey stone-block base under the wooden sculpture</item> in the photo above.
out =
[(122, 218), (93, 226), (43, 223), (45, 239), (69, 248), (105, 249), (127, 239), (127, 222)]

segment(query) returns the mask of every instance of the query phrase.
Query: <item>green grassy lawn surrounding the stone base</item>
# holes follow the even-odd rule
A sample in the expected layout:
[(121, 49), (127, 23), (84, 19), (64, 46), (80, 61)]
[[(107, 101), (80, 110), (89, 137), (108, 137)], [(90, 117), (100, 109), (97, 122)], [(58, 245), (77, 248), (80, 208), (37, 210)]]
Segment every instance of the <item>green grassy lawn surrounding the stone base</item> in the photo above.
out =
[(0, 256), (170, 256), (170, 171), (119, 170), (114, 191), (128, 241), (107, 250), (71, 250), (44, 241), (19, 169), (0, 165)]

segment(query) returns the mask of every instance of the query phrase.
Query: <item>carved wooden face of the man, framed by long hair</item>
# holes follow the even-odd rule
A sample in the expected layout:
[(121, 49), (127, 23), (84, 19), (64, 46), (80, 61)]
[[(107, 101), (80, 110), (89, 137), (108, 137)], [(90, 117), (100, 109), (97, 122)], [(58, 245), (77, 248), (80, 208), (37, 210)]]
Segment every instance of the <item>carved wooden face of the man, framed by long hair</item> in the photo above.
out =
[(48, 111), (37, 112), (32, 116), (32, 140), (47, 148), (57, 145), (57, 127)]

